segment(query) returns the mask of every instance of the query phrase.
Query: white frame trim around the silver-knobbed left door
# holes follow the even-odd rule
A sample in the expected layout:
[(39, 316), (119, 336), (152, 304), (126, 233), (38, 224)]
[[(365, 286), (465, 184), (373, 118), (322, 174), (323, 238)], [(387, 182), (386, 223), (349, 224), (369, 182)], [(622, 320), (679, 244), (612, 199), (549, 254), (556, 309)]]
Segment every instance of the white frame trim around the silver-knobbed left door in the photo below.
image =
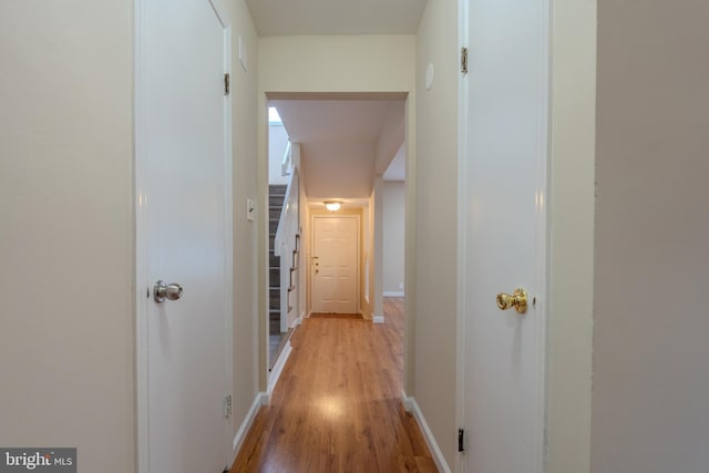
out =
[[(135, 237), (135, 425), (136, 425), (136, 471), (137, 473), (148, 473), (150, 442), (148, 442), (148, 373), (147, 373), (147, 312), (151, 295), (151, 281), (147, 275), (147, 212), (146, 193), (147, 175), (145, 169), (145, 150), (143, 130), (145, 123), (145, 112), (143, 100), (145, 96), (144, 74), (145, 74), (145, 6), (150, 0), (134, 0), (134, 97), (133, 97), (133, 166), (134, 166), (134, 237)], [(224, 28), (224, 70), (232, 74), (232, 30), (228, 17), (219, 0), (208, 1), (217, 19)], [(233, 187), (232, 187), (232, 94), (226, 96), (224, 106), (224, 278), (225, 278), (225, 301), (224, 301), (224, 343), (225, 343), (225, 369), (224, 387), (225, 394), (232, 393), (234, 385), (234, 289), (233, 289)], [(146, 292), (147, 291), (147, 292)], [(147, 297), (146, 297), (147, 296)], [(225, 465), (233, 461), (232, 432), (234, 431), (234, 419), (226, 422), (224, 432), (224, 459)]]

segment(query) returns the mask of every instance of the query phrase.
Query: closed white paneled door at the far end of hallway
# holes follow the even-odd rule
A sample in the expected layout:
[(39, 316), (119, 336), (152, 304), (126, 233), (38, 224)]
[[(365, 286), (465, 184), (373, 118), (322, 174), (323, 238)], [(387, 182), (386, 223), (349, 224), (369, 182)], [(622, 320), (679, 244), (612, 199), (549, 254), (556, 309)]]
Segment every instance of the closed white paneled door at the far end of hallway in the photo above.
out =
[(312, 311), (357, 313), (359, 218), (312, 218)]

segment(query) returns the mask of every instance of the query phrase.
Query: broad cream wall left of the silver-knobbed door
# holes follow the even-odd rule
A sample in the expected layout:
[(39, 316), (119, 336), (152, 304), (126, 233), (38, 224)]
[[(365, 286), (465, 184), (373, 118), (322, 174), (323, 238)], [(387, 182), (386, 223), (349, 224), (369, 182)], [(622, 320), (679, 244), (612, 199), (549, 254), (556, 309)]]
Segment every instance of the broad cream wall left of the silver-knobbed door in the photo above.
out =
[(130, 472), (133, 1), (3, 1), (0, 60), (0, 445)]

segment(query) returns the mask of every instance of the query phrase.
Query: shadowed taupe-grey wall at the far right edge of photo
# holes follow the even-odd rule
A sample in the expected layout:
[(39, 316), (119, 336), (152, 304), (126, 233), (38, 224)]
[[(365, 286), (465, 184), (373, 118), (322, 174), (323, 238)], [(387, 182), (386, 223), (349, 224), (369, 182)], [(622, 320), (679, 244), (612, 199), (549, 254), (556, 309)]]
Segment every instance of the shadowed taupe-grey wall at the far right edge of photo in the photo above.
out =
[(593, 471), (709, 465), (709, 4), (599, 0)]

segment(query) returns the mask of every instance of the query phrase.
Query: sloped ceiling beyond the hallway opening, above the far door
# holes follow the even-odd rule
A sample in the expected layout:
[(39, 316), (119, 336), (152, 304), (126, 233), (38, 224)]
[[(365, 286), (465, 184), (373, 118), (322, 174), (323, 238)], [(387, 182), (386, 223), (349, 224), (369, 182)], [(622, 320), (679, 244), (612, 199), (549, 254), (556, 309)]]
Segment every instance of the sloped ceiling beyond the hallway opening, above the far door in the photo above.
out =
[(300, 144), (309, 198), (368, 198), (374, 174), (383, 174), (402, 147), (400, 99), (279, 99), (269, 106), (278, 110), (290, 142)]

